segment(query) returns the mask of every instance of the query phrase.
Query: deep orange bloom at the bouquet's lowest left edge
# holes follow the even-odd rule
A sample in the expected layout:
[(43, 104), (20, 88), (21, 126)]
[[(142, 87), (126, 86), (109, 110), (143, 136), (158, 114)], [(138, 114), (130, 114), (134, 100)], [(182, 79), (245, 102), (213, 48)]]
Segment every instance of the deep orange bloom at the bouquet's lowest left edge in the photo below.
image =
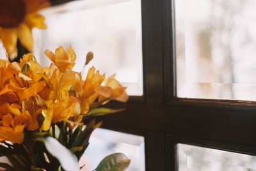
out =
[(8, 140), (21, 144), (24, 139), (24, 124), (16, 123), (11, 114), (3, 116), (0, 126), (0, 141)]

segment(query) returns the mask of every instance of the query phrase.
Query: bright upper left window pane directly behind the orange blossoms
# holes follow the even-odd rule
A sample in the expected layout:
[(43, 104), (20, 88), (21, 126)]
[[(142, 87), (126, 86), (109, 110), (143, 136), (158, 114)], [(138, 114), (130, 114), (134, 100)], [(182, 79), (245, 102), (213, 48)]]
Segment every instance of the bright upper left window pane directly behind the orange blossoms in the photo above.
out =
[(140, 0), (83, 0), (42, 11), (47, 29), (34, 30), (34, 52), (45, 66), (44, 50), (59, 45), (76, 50), (74, 70), (82, 71), (87, 52), (95, 66), (127, 86), (129, 95), (143, 95)]

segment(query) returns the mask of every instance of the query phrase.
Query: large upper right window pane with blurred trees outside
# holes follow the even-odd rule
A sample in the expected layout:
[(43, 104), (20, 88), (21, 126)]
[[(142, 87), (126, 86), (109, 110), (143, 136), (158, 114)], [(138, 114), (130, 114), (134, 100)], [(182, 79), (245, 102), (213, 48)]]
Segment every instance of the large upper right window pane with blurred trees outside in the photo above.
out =
[(176, 0), (177, 95), (256, 100), (256, 1)]

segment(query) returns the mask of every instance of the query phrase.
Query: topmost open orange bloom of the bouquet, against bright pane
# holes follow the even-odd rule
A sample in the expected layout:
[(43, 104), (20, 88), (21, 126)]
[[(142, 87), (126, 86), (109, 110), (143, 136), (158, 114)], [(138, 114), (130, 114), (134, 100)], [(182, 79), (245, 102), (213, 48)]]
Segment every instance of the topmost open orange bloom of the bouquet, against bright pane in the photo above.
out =
[(75, 65), (76, 53), (71, 46), (68, 48), (67, 52), (60, 46), (55, 50), (55, 54), (50, 50), (45, 50), (45, 55), (51, 59), (52, 63), (54, 63), (61, 72), (70, 71)]

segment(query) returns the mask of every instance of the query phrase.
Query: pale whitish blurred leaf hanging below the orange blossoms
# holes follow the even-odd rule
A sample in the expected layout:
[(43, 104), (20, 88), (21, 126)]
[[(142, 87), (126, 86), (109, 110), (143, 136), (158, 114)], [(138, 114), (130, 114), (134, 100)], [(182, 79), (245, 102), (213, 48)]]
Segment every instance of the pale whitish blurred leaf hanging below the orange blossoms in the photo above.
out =
[(79, 165), (76, 156), (70, 152), (58, 140), (52, 137), (44, 139), (45, 148), (49, 153), (60, 161), (61, 167), (64, 170), (79, 170)]

